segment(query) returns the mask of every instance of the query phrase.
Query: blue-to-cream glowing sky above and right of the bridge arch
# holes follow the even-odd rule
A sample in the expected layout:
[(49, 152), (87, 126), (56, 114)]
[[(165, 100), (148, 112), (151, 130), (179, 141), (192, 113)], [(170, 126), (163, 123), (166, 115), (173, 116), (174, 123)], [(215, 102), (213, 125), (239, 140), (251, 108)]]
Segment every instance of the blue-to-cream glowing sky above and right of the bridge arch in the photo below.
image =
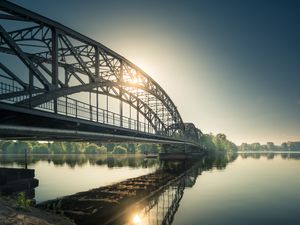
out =
[(12, 2), (141, 67), (205, 133), (300, 140), (300, 1)]

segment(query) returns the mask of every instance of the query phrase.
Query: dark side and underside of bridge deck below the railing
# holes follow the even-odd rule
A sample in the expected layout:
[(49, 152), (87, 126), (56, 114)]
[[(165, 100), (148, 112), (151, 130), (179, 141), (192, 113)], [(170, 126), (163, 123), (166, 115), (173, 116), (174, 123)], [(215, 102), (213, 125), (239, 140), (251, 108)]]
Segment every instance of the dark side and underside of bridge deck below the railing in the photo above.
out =
[(0, 103), (2, 139), (185, 143), (174, 138)]

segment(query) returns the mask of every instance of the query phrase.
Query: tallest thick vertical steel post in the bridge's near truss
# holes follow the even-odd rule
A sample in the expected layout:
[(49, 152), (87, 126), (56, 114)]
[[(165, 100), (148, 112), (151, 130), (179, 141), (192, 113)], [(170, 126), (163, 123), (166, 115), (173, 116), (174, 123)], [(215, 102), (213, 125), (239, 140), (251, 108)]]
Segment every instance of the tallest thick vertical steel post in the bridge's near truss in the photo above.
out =
[[(54, 88), (58, 88), (58, 34), (57, 30), (55, 28), (51, 29), (52, 33), (52, 49), (51, 49), (51, 55), (52, 55), (52, 85)], [(57, 98), (53, 98), (53, 109), (54, 113), (57, 113)]]

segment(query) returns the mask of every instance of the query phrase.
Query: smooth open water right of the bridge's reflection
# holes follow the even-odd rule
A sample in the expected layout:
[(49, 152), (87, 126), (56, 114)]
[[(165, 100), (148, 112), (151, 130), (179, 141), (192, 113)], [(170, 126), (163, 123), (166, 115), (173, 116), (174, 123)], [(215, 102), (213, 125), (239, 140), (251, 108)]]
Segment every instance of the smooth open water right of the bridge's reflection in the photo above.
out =
[(300, 224), (300, 154), (240, 154), (204, 171), (173, 224)]

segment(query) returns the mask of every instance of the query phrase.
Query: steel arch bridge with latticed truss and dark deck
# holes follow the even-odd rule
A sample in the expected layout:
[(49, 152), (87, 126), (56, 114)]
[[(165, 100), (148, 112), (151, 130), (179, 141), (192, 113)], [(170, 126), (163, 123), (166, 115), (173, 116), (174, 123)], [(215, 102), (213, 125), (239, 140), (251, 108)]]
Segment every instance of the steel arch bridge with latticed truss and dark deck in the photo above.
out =
[[(111, 102), (118, 112), (109, 109)], [(172, 99), (139, 67), (5, 0), (0, 2), (0, 115), (2, 138), (98, 140), (101, 134), (113, 140), (198, 141), (195, 126), (186, 129)]]

